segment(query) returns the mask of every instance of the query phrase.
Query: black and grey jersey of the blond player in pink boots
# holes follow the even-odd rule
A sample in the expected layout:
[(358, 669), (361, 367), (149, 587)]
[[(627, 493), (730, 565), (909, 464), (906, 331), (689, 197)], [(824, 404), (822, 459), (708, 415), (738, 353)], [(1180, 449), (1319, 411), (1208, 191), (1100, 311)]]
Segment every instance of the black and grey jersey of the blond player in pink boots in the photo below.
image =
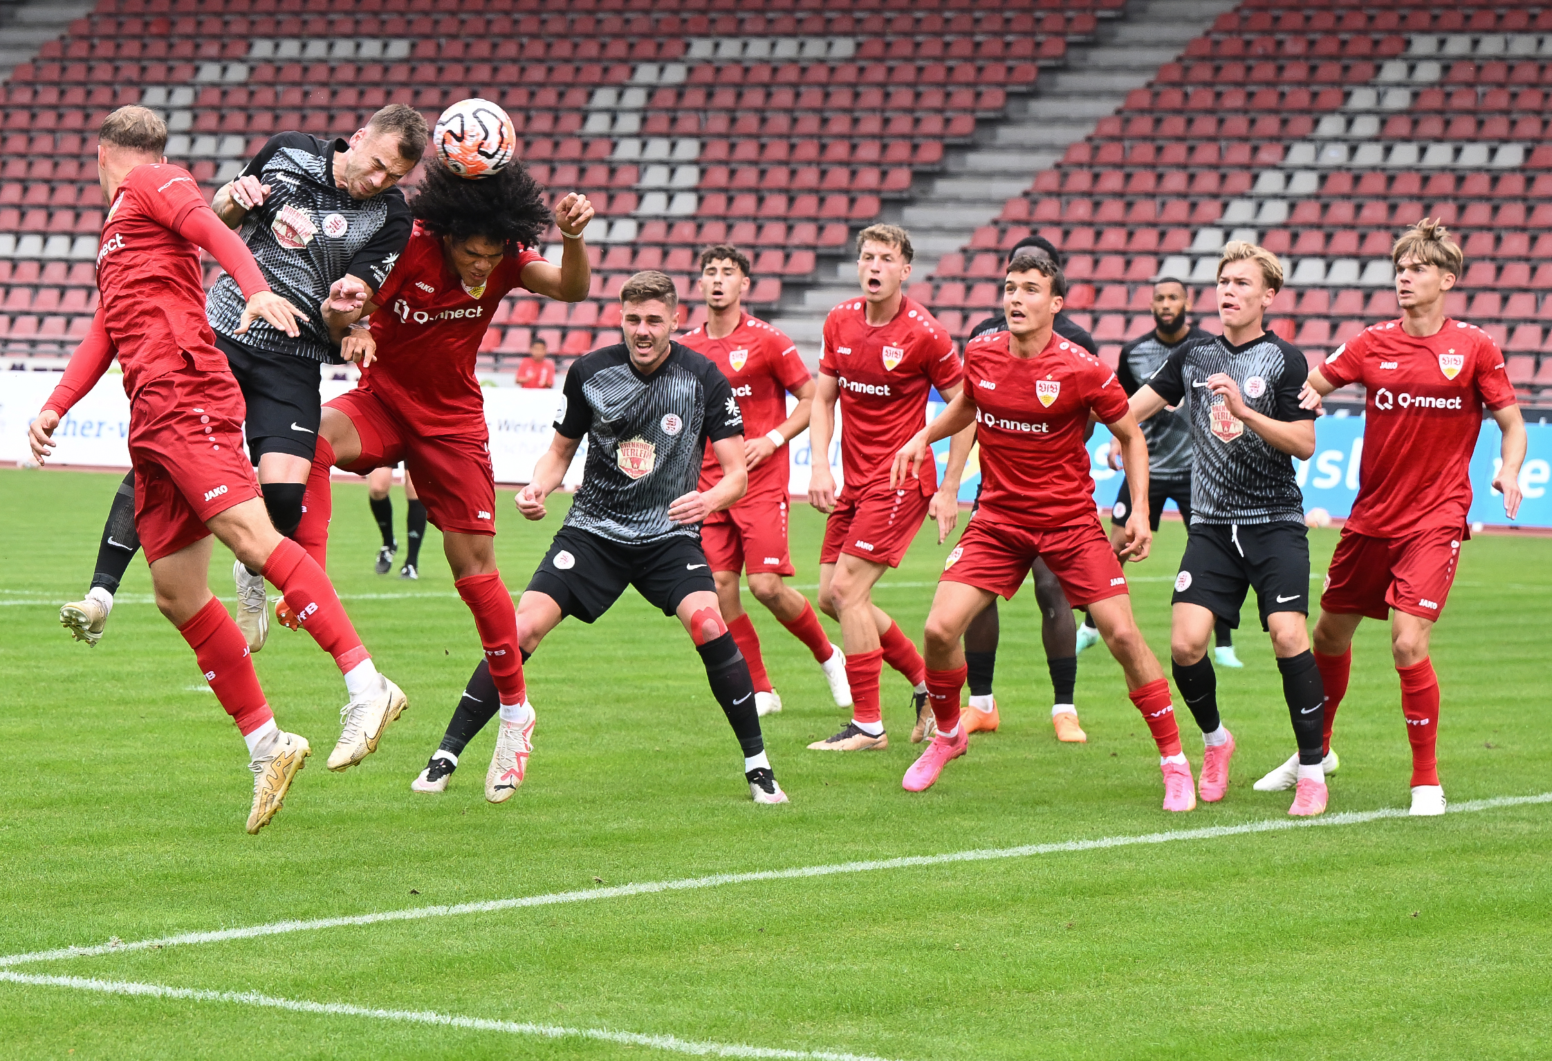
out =
[(1238, 383), (1245, 403), (1274, 420), (1313, 420), (1299, 408), (1308, 366), (1297, 346), (1262, 335), (1243, 346), (1209, 335), (1181, 343), (1148, 378), (1159, 397), (1190, 423), (1190, 521), (1304, 521), (1304, 493), (1293, 458), (1231, 416), (1207, 391), (1207, 377), (1225, 372)]

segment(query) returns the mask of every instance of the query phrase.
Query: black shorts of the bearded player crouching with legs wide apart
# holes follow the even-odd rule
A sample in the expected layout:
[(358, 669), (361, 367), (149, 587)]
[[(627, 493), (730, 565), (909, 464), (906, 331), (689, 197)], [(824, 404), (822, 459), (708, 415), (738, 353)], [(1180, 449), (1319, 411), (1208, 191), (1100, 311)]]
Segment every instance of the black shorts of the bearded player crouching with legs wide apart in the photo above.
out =
[(560, 527), (528, 588), (551, 597), (560, 614), (593, 622), (619, 600), (625, 586), (672, 616), (692, 593), (715, 593), (700, 540), (677, 534), (661, 541), (625, 544), (577, 527)]

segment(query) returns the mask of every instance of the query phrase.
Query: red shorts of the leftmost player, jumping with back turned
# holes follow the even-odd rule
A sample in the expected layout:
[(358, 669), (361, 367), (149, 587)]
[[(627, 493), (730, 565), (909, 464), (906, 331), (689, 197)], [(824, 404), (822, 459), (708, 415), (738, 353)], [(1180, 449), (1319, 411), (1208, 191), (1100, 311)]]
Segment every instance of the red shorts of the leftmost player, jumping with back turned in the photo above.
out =
[(231, 372), (192, 365), (151, 380), (130, 400), (135, 532), (147, 563), (206, 537), (213, 517), (264, 496), (242, 450), (244, 416)]

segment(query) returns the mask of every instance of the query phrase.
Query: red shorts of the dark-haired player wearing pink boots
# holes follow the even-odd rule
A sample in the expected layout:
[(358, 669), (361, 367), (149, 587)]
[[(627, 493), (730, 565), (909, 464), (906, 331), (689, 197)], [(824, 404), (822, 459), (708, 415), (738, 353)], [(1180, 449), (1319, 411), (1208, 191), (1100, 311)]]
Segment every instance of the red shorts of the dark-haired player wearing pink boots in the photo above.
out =
[(1012, 600), (1037, 558), (1074, 608), (1127, 593), (1127, 575), (1097, 518), (1071, 527), (1015, 527), (976, 517), (948, 554), (941, 580)]

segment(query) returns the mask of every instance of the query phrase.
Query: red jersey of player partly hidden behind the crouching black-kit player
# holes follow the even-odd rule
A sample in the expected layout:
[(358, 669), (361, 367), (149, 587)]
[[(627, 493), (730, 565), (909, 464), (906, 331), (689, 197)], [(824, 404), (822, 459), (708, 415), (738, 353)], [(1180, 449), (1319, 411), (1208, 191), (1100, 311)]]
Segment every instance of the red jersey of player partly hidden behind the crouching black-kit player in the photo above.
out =
[[(720, 340), (706, 335), (706, 327), (697, 327), (680, 343), (711, 358), (733, 385), (733, 397), (739, 400), (743, 414), (743, 437), (757, 439), (770, 434), (787, 420), (787, 392), (796, 391), (812, 375), (798, 357), (798, 347), (784, 332), (762, 320), (739, 313), (739, 324)], [(770, 459), (750, 472), (747, 498), (787, 496), (792, 468), (787, 447), (771, 453)], [(709, 490), (722, 481), (722, 462), (706, 444), (706, 456), (700, 465), (698, 490)]]

